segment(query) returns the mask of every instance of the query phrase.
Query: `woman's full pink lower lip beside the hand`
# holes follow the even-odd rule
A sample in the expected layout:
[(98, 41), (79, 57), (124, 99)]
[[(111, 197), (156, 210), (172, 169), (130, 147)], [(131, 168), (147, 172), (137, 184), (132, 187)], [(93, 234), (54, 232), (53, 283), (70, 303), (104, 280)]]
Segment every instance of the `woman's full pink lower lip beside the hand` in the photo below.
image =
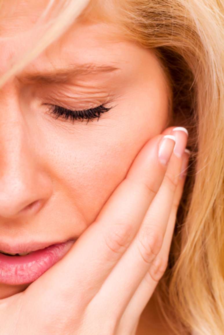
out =
[(25, 256), (7, 256), (0, 253), (0, 283), (9, 285), (32, 283), (57, 263), (73, 244), (74, 241), (70, 240)]

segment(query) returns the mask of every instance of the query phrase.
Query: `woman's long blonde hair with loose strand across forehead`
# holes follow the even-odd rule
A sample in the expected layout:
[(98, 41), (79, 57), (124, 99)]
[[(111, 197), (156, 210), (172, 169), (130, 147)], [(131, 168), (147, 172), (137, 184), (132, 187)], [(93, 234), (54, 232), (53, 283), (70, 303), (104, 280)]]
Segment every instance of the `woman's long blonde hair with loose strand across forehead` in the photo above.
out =
[[(172, 117), (167, 126), (187, 128), (188, 149), (192, 152), (168, 267), (155, 291), (157, 306), (174, 334), (189, 334), (195, 329), (203, 335), (221, 335), (224, 329), (222, 3), (219, 0), (58, 3), (60, 14), (47, 23), (40, 41), (2, 76), (0, 84), (62, 35), (75, 18), (88, 20), (91, 12), (95, 13), (93, 20), (100, 18), (119, 24), (125, 38), (154, 50), (172, 92)], [(117, 11), (113, 17), (107, 11), (112, 3)], [(49, 8), (54, 4), (50, 1)]]

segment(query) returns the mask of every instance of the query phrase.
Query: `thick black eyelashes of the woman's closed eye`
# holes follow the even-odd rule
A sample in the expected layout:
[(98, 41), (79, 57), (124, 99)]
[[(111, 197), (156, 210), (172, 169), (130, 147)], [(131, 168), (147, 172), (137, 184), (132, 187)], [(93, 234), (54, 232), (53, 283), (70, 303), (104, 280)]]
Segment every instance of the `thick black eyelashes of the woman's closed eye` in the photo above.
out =
[(95, 108), (90, 108), (90, 109), (87, 109), (87, 110), (82, 110), (82, 111), (72, 111), (72, 110), (69, 110), (69, 109), (66, 109), (64, 107), (60, 107), (60, 106), (57, 106), (57, 105), (52, 105), (51, 106), (51, 114), (54, 114), (55, 115), (55, 119), (58, 119), (59, 117), (62, 117), (63, 119), (66, 119), (68, 120), (70, 118), (70, 120), (72, 122), (74, 122), (74, 120), (88, 120), (87, 123), (89, 122), (89, 120), (92, 120), (95, 119), (95, 118), (98, 118), (97, 121), (99, 121), (99, 118), (101, 117), (101, 115), (103, 113), (106, 113), (108, 112), (110, 108), (107, 108), (105, 107), (103, 104), (98, 106), (98, 107), (95, 107)]

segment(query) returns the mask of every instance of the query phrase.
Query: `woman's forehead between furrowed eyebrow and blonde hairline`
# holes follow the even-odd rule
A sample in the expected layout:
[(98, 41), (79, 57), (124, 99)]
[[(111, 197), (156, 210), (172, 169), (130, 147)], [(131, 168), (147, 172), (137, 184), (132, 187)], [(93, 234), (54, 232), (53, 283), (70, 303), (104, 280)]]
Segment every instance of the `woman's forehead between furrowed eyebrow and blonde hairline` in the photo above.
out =
[[(9, 6), (10, 10), (7, 13), (5, 11), (5, 19), (1, 21), (5, 30), (0, 30), (0, 78), (7, 73), (13, 64), (26, 55), (27, 50), (32, 50), (32, 47), (35, 47), (35, 43), (38, 41), (38, 31), (37, 34), (34, 34), (32, 27), (47, 5), (47, 2), (43, 0), (40, 2), (12, 0), (7, 3), (12, 4), (14, 2), (21, 3), (22, 6), (15, 6), (15, 8)], [(93, 12), (93, 19), (91, 18), (91, 6), (94, 2), (90, 2), (91, 5), (87, 7), (87, 11), (84, 10), (79, 19), (75, 20), (59, 39), (51, 43), (36, 59), (26, 64), (18, 74), (19, 77), (37, 77), (42, 73), (55, 73), (55, 70), (60, 72), (61, 69), (63, 73), (64, 68), (71, 66), (75, 67), (76, 70), (79, 65), (93, 63), (94, 66), (102, 66), (102, 64), (106, 67), (112, 66), (123, 70), (123, 73), (126, 74), (131, 74), (134, 71), (138, 72), (139, 66), (150, 67), (151, 76), (158, 76), (160, 73), (159, 77), (162, 78), (162, 81), (164, 79), (166, 81), (155, 54), (151, 50), (143, 48), (137, 42), (127, 39), (127, 36), (123, 34), (122, 27), (114, 24), (113, 18), (110, 20), (107, 15), (103, 15), (101, 20), (100, 12), (97, 15)], [(105, 0), (106, 2), (110, 1)], [(36, 7), (31, 5), (33, 3)], [(24, 12), (22, 11), (23, 8), (25, 8)], [(34, 10), (34, 8), (37, 10)], [(113, 16), (112, 6), (108, 8), (111, 8), (110, 15)], [(12, 13), (14, 14), (12, 15)], [(116, 17), (116, 22), (118, 22), (118, 17)], [(11, 34), (10, 32), (16, 26), (17, 33)], [(25, 28), (22, 29), (23, 27)]]

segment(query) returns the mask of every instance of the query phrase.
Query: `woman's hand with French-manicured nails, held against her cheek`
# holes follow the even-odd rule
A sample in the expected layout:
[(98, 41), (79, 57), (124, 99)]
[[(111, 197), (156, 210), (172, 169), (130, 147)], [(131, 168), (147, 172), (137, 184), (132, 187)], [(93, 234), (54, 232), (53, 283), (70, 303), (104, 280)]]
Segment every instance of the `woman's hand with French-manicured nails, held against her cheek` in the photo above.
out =
[[(1, 335), (134, 335), (139, 317), (163, 275), (188, 154), (158, 158), (162, 134), (134, 159), (97, 219), (68, 253), (27, 289), (0, 300)], [(184, 150), (187, 135), (176, 131)]]

